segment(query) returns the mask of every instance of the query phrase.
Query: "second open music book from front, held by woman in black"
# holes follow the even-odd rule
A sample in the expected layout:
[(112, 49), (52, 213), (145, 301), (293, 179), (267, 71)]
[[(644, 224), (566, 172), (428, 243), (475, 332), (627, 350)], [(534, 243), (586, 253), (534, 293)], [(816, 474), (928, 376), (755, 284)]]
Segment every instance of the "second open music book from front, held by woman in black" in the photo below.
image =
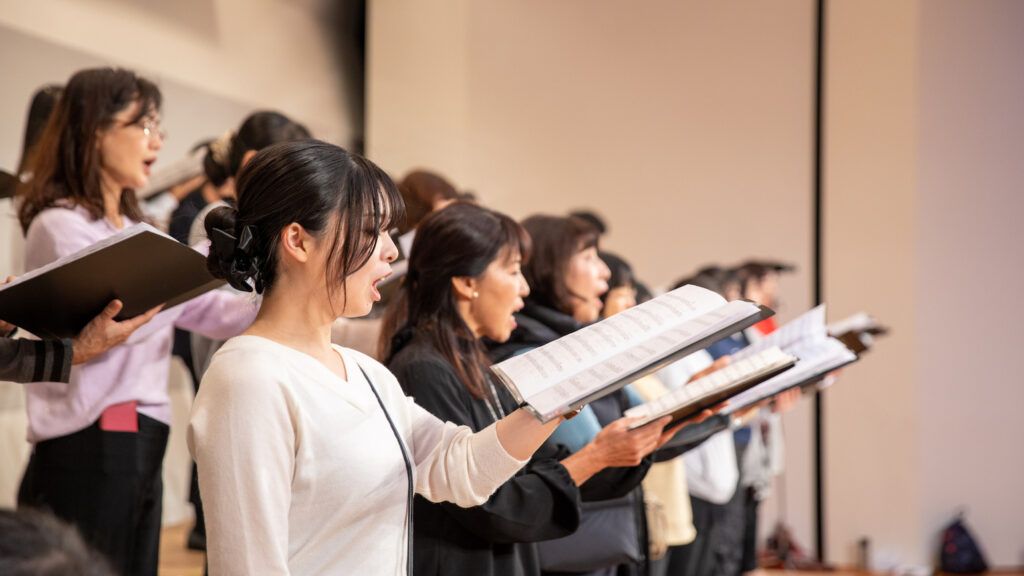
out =
[(674, 422), (685, 420), (701, 410), (783, 373), (796, 362), (795, 357), (782, 352), (778, 346), (771, 346), (697, 378), (656, 400), (630, 408), (626, 411), (626, 415), (639, 418), (630, 427), (640, 427), (670, 414)]

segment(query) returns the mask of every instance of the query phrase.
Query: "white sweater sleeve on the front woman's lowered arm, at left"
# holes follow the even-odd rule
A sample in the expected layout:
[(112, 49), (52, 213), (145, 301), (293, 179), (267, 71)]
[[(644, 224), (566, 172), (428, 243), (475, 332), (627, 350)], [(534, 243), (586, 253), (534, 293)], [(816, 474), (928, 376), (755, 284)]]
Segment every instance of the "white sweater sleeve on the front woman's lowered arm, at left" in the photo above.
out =
[(289, 573), (296, 447), (291, 403), (272, 366), (251, 360), (211, 367), (188, 425), (211, 574)]

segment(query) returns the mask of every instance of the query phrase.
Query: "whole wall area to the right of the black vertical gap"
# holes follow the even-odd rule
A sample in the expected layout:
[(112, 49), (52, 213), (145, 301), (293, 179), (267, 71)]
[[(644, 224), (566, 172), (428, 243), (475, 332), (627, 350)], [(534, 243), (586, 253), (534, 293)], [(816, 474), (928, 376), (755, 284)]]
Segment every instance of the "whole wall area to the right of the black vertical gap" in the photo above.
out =
[(827, 394), (829, 557), (930, 565), (957, 509), (1024, 565), (1024, 5), (829, 5), (825, 298), (892, 337)]

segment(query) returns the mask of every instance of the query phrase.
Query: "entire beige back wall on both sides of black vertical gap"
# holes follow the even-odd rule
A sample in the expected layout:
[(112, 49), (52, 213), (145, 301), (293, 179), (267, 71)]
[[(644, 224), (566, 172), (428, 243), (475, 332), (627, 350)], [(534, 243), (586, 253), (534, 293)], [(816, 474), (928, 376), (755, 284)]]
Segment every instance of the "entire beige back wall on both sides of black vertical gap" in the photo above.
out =
[[(827, 4), (824, 295), (833, 318), (894, 328), (825, 393), (828, 560), (854, 563), (867, 537), (878, 568), (928, 564), (963, 504), (993, 563), (1020, 565), (1024, 388), (1006, 359), (1021, 313), (971, 298), (1021, 285), (1021, 8)], [(515, 216), (594, 207), (607, 247), (654, 284), (792, 259), (788, 318), (810, 303), (813, 8), (376, 0), (368, 151)], [(762, 520), (810, 544), (809, 403), (785, 424), (787, 474)]]

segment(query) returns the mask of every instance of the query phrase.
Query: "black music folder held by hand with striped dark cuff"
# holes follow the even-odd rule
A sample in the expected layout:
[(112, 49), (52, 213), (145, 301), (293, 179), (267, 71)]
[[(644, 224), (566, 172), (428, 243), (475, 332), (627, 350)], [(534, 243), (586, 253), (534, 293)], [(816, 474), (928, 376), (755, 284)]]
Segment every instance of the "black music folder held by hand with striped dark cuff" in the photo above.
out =
[(206, 270), (206, 256), (140, 223), (0, 286), (0, 320), (41, 338), (71, 338), (115, 298), (123, 320), (223, 283)]

